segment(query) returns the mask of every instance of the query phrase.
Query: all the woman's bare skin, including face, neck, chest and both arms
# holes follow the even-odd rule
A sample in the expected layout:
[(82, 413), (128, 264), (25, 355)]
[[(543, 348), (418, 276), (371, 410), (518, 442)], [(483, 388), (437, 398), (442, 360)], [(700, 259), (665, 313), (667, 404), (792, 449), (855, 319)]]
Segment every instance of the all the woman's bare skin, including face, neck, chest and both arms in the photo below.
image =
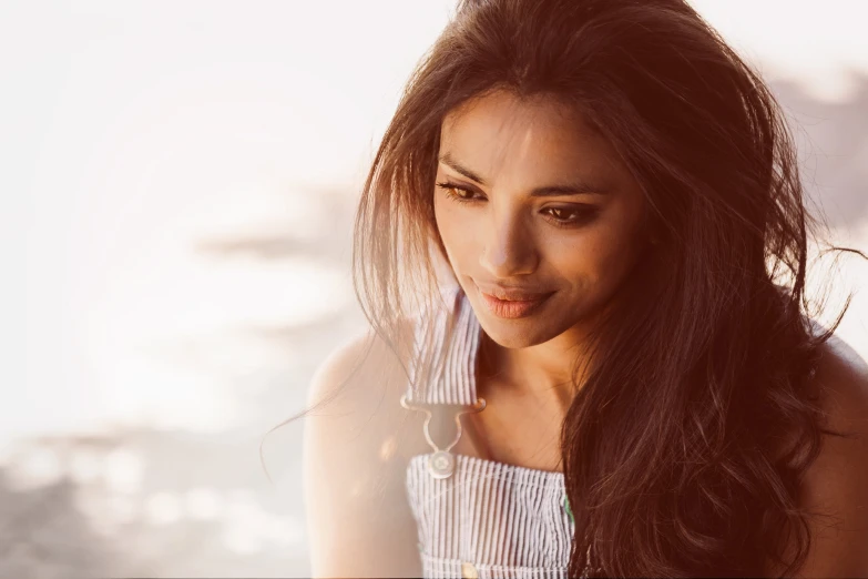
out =
[[(448, 153), (479, 177), (441, 162), (437, 183), (461, 185), (472, 193), (453, 193), (479, 201), (458, 203), (440, 187), (433, 195), (449, 263), (484, 331), (477, 386), (488, 402), (484, 412), (462, 417), (466, 435), (452, 451), (562, 470), (558, 436), (574, 395), (564, 385), (570, 360), (642, 258), (644, 197), (609, 143), (555, 102), (492, 93), (455, 111), (441, 129), (440, 156)], [(607, 193), (530, 195), (535, 187), (578, 180)], [(575, 227), (553, 223), (552, 213), (569, 217), (579, 205), (598, 207), (595, 217)], [(503, 319), (489, 312), (477, 282), (555, 293), (535, 315)], [(404, 339), (411, 335), (408, 326)], [(354, 372), (368, 339), (371, 354)], [(421, 575), (405, 477), (410, 457), (430, 448), (421, 413), (407, 413), (398, 402), (407, 363), (368, 335), (338, 348), (312, 383), (312, 406), (340, 393), (305, 425), (313, 577)], [(824, 437), (806, 473), (800, 504), (819, 515), (809, 521), (814, 542), (799, 575), (868, 577), (868, 366), (833, 341), (824, 348), (816, 386), (828, 393), (829, 426), (855, 438)], [(436, 413), (438, 440), (453, 433), (448, 410)], [(769, 563), (767, 575), (779, 572)]]

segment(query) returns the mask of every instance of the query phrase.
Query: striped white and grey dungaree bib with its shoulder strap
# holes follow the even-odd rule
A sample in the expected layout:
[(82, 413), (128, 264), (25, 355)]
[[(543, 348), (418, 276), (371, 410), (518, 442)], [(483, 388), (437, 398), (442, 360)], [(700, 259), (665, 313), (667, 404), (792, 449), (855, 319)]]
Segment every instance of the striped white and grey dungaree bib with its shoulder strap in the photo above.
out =
[[(422, 316), (436, 325), (435, 355), (426, 379), (411, 379), (407, 398), (427, 404), (472, 404), (481, 328), (462, 291), (445, 308)], [(449, 297), (449, 294), (447, 294)], [(451, 338), (448, 318), (455, 319)], [(421, 334), (417, 332), (417, 344)], [(420, 344), (418, 347), (426, 347)], [(411, 378), (418, 378), (410, 368)], [(432, 454), (412, 457), (407, 492), (418, 527), (423, 577), (565, 578), (574, 525), (565, 508), (561, 473), (453, 455), (445, 478), (432, 476)]]

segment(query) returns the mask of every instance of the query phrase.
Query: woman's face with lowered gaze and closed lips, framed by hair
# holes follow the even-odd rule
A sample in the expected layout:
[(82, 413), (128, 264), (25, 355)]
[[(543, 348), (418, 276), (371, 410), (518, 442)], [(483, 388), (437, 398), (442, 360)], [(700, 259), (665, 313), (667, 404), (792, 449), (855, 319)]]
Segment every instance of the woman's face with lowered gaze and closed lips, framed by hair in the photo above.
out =
[[(579, 338), (646, 243), (639, 184), (605, 139), (553, 100), (499, 91), (452, 111), (433, 195), (458, 283), (506, 347)], [(519, 295), (499, 294), (509, 290)]]

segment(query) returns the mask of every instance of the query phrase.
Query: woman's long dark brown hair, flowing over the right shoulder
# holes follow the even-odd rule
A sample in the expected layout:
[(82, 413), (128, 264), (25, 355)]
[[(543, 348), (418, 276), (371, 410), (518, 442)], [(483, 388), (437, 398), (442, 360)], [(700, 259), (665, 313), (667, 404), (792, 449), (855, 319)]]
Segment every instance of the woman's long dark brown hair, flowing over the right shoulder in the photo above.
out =
[(661, 240), (594, 334), (563, 424), (569, 575), (589, 546), (598, 575), (795, 572), (810, 545), (799, 480), (825, 431), (810, 377), (844, 314), (825, 332), (807, 316), (807, 242), (824, 223), (778, 104), (685, 1), (459, 3), (364, 184), (353, 258), (369, 323), (404, 348), (408, 299), (438, 299), (440, 125), (503, 89), (581, 111)]

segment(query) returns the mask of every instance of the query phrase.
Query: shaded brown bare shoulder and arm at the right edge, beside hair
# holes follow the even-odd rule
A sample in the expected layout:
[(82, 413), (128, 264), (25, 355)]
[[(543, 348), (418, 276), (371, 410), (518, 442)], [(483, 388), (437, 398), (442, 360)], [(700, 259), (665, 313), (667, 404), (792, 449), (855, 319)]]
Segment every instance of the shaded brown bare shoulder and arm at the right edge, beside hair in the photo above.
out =
[(804, 577), (868, 577), (868, 364), (839, 337), (823, 346), (814, 378), (826, 434), (805, 475), (811, 548)]

